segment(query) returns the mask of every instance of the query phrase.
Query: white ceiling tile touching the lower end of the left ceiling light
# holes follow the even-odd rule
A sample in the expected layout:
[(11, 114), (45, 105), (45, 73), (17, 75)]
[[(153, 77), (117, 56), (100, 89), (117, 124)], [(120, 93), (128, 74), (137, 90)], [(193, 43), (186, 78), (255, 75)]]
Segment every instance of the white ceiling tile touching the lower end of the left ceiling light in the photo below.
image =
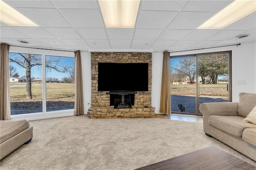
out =
[(30, 36), (31, 38), (56, 38), (40, 27), (13, 27), (15, 30)]

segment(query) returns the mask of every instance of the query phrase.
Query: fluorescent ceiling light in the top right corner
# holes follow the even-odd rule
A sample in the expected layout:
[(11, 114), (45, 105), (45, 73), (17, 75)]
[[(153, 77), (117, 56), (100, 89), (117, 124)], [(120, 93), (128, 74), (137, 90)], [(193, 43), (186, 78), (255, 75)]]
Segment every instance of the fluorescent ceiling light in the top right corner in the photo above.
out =
[(256, 0), (235, 0), (197, 29), (223, 29), (256, 11)]

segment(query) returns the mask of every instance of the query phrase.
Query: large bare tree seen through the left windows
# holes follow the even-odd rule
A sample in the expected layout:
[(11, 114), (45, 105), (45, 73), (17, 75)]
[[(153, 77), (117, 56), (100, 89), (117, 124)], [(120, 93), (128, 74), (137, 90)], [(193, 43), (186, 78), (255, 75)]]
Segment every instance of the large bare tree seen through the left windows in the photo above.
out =
[[(10, 62), (14, 62), (26, 69), (26, 96), (27, 99), (32, 99), (31, 68), (34, 66), (40, 67), (42, 65), (41, 55), (12, 53), (9, 59)], [(70, 69), (69, 65), (60, 61), (60, 57), (48, 57), (45, 61), (45, 66), (48, 71), (54, 69), (62, 73), (69, 71)]]

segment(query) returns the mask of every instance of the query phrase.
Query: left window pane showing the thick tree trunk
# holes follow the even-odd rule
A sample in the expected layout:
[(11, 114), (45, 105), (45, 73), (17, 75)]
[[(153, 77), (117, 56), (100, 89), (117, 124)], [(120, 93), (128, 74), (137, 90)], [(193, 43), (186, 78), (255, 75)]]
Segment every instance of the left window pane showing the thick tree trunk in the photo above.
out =
[[(42, 82), (33, 82), (42, 77), (42, 55), (9, 53), (11, 115), (42, 112)], [(26, 77), (23, 83), (19, 77)]]

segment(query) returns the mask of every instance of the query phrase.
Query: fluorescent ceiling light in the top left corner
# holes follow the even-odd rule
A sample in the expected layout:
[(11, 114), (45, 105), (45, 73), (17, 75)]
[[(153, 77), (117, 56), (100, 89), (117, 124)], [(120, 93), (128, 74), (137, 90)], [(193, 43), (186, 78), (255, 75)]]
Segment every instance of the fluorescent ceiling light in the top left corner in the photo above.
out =
[(8, 26), (38, 26), (2, 0), (0, 0), (0, 21)]

